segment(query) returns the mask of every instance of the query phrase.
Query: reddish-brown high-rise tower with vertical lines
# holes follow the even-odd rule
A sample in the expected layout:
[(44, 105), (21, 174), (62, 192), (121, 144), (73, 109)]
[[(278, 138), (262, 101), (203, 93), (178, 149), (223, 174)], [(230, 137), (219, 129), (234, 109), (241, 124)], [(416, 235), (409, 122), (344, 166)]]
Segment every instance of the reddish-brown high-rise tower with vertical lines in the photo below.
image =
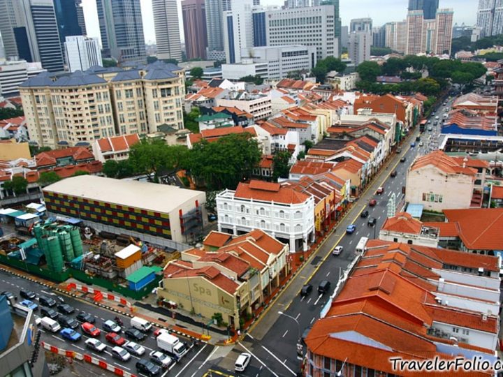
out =
[(183, 0), (182, 18), (187, 59), (204, 59), (207, 47), (205, 0)]

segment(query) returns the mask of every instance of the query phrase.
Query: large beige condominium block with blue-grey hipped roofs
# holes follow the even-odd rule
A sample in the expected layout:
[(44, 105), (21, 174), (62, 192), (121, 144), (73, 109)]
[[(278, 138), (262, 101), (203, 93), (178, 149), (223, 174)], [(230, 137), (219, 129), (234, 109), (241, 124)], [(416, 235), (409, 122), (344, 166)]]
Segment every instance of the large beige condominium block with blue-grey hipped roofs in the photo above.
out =
[(179, 66), (161, 61), (40, 73), (20, 84), (30, 140), (54, 148), (155, 133), (163, 124), (182, 129), (184, 75)]

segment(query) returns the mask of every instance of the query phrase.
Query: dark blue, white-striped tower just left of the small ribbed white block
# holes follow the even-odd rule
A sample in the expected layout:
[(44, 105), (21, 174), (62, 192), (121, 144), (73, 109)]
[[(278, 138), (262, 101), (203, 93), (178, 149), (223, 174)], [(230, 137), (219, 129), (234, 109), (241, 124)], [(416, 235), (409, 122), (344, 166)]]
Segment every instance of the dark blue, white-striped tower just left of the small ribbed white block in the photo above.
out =
[(14, 36), (19, 57), (40, 61), (48, 71), (63, 71), (63, 54), (52, 0), (17, 0)]

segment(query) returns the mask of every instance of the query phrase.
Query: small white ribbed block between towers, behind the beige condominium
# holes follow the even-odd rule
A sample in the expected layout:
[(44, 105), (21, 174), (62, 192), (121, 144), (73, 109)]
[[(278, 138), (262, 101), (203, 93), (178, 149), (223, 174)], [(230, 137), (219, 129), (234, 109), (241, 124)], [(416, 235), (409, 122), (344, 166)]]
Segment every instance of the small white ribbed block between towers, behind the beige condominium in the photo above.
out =
[(92, 66), (103, 66), (98, 38), (67, 36), (64, 43), (68, 71), (86, 71)]

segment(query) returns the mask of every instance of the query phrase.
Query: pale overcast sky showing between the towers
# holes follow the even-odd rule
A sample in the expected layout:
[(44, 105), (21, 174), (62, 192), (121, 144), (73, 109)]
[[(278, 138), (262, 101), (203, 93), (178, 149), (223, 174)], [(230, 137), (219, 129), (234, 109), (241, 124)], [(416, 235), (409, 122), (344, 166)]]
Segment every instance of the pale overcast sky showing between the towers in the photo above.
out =
[[(147, 43), (155, 42), (154, 18), (152, 15), (152, 0), (140, 0), (143, 17), (143, 32)], [(180, 1), (178, 12), (181, 13)], [(82, 0), (84, 5), (87, 34), (99, 38), (98, 16), (96, 15), (96, 0)], [(264, 5), (282, 5), (283, 0), (261, 0)], [(374, 26), (386, 22), (401, 21), (407, 16), (407, 0), (340, 0), (340, 16), (342, 25), (349, 25), (352, 18), (372, 17)], [(476, 0), (440, 0), (439, 8), (453, 8), (454, 22), (474, 25), (476, 22)], [(180, 36), (183, 39), (182, 17), (180, 15)]]

